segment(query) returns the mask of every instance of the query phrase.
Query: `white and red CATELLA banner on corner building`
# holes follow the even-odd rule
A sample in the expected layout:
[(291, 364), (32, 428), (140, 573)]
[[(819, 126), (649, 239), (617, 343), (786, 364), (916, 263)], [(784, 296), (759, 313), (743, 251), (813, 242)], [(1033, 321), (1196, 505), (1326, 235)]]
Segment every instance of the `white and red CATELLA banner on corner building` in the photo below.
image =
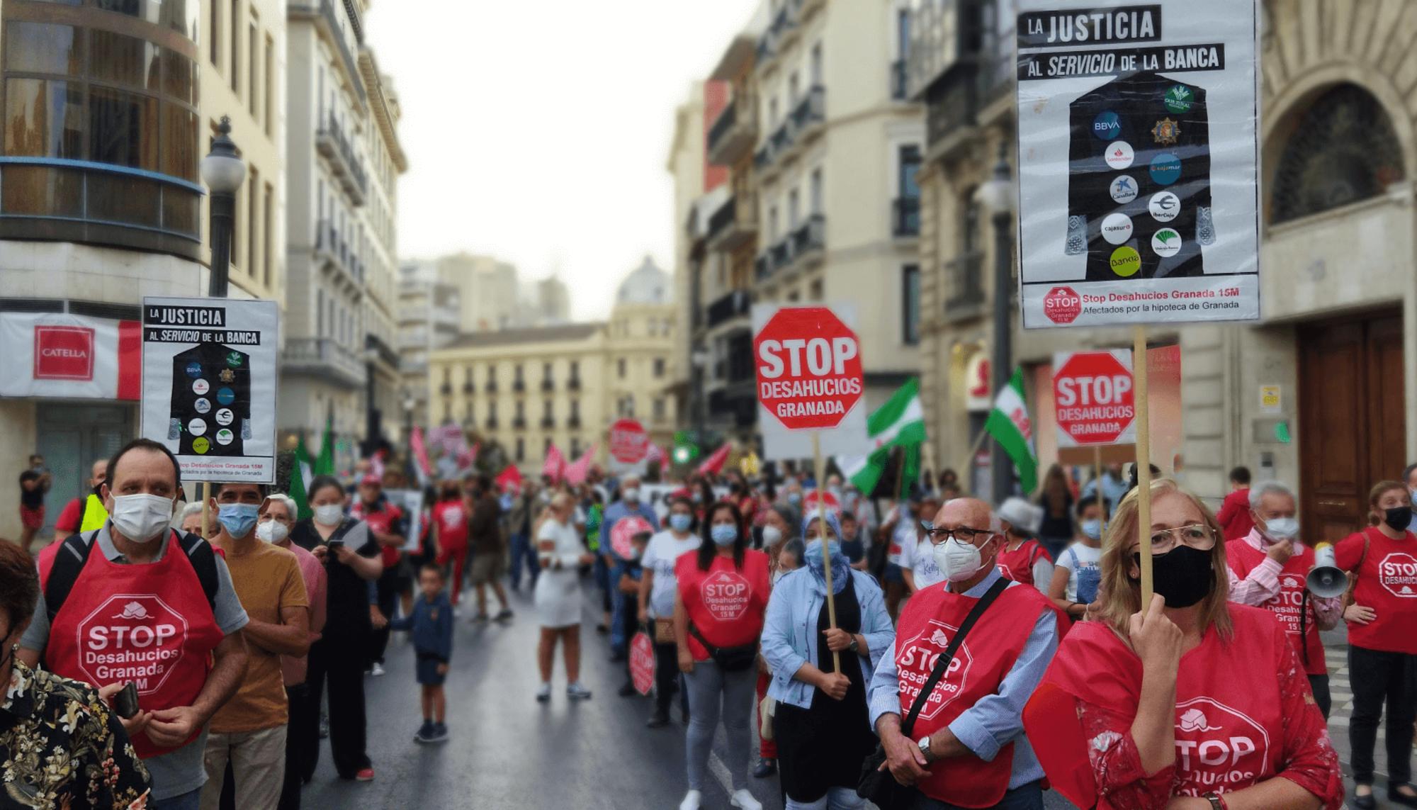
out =
[(137, 399), (142, 330), (133, 320), (0, 313), (0, 397)]

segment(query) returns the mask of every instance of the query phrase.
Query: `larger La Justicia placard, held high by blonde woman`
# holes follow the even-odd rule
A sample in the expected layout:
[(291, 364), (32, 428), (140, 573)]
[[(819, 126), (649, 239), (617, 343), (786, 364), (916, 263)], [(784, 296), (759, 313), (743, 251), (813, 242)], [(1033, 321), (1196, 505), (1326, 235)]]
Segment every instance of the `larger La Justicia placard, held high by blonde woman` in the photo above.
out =
[(1254, 0), (1019, 0), (1023, 326), (1260, 317)]

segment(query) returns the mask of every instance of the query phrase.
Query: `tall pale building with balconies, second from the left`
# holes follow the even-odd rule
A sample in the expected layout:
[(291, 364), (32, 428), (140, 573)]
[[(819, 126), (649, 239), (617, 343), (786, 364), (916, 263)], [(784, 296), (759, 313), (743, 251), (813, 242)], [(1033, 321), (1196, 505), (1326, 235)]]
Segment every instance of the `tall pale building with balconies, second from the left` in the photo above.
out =
[(278, 422), (286, 445), (330, 419), (341, 446), (400, 406), (395, 344), (398, 99), (364, 47), (366, 0), (288, 16), (286, 319)]

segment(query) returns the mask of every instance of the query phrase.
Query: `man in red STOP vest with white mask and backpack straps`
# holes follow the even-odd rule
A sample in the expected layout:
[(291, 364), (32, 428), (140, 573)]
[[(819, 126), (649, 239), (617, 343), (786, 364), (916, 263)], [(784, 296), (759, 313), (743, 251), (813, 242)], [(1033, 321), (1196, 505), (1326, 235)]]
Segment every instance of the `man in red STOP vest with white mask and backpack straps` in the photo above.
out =
[(157, 442), (136, 439), (109, 460), (99, 493), (109, 518), (40, 561), (43, 591), (18, 654), (96, 687), (136, 687), (139, 712), (123, 726), (159, 810), (197, 807), (207, 722), (247, 668), (247, 612), (227, 564), (169, 525), (180, 484), (177, 459)]

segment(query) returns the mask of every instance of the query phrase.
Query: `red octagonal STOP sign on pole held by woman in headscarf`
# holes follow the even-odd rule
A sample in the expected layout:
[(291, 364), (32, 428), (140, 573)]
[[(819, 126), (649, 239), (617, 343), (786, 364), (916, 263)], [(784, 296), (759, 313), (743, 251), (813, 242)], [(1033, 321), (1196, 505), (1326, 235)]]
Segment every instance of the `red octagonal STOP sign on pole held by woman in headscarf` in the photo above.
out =
[(779, 309), (752, 338), (758, 402), (784, 428), (837, 426), (864, 389), (856, 333), (826, 307)]

